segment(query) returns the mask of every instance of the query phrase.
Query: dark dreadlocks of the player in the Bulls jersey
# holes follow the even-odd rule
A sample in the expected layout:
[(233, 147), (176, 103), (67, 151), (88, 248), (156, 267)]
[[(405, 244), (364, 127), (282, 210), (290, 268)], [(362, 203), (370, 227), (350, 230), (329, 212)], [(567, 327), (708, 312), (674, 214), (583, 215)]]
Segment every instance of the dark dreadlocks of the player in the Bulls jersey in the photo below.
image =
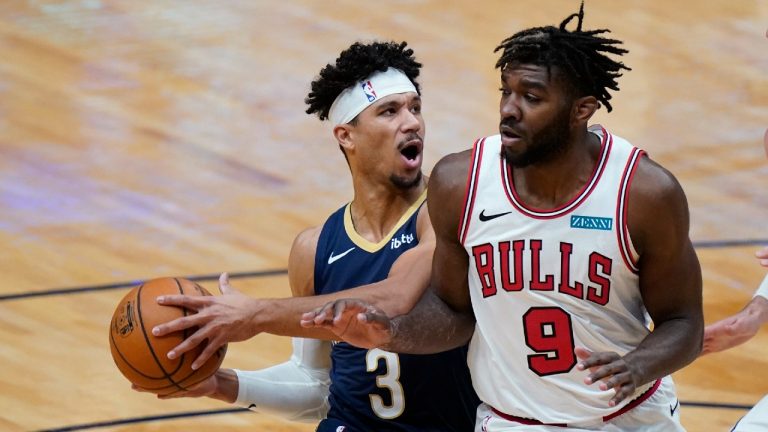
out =
[[(568, 31), (566, 26), (578, 17), (576, 30)], [(535, 27), (523, 30), (504, 39), (493, 52), (503, 50), (496, 62), (502, 71), (509, 64), (533, 64), (546, 66), (551, 74), (553, 67), (560, 70), (562, 77), (576, 90), (576, 97), (594, 96), (611, 112), (611, 94), (608, 89), (619, 90), (616, 79), (621, 70), (631, 70), (624, 63), (612, 60), (604, 53), (621, 56), (628, 51), (619, 48), (622, 41), (599, 36), (610, 30), (582, 31), (584, 2), (578, 13), (568, 16), (560, 27)]]

